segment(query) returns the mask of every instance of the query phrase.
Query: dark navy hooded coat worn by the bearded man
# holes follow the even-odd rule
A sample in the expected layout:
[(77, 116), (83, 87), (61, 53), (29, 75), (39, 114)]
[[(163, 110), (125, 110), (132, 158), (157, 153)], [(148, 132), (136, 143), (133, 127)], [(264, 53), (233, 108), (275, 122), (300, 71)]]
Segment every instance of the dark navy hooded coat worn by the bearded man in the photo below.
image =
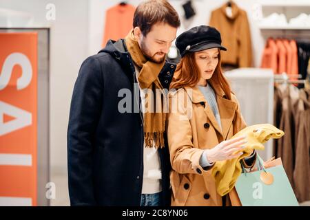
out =
[[(158, 78), (169, 88), (176, 65), (165, 63)], [(143, 123), (140, 112), (120, 113), (120, 89), (134, 96), (134, 65), (123, 40), (81, 65), (68, 125), (68, 177), (72, 206), (139, 206), (143, 181)], [(138, 91), (138, 89), (137, 89)], [(140, 97), (140, 96), (136, 96)], [(141, 100), (140, 100), (141, 101)], [(136, 105), (138, 106), (138, 105)], [(165, 138), (167, 143), (167, 138)], [(169, 149), (158, 149), (163, 204), (170, 204)]]

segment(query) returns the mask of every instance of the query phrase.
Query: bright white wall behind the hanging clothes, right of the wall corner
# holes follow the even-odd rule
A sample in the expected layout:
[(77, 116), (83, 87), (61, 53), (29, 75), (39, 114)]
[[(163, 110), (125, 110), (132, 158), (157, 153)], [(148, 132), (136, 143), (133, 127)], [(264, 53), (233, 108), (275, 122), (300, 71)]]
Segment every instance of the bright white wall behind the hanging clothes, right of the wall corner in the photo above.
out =
[[(89, 19), (89, 50), (88, 54), (95, 54), (101, 49), (101, 43), (103, 38), (103, 27), (105, 24), (105, 11), (110, 7), (116, 5), (120, 1), (103, 1), (103, 0), (90, 0), (90, 19)], [(138, 5), (142, 0), (130, 0), (127, 3), (132, 5)], [(181, 17), (181, 27), (178, 30), (177, 34), (188, 30), (196, 25), (207, 25), (209, 23), (209, 17), (211, 11), (220, 7), (227, 0), (194, 0), (192, 1), (193, 8), (196, 10), (196, 15), (192, 20), (186, 21), (183, 18), (184, 10), (182, 8), (182, 4), (186, 1), (180, 0), (169, 0), (169, 3), (174, 6), (176, 11)], [(256, 3), (259, 0), (236, 0), (235, 1), (240, 8), (245, 10), (248, 14), (251, 36), (253, 43), (253, 55), (254, 55), (254, 65), (258, 67), (260, 65), (260, 54), (262, 53), (262, 49), (264, 48), (265, 42), (260, 35), (260, 30), (258, 29), (258, 25), (256, 22)]]

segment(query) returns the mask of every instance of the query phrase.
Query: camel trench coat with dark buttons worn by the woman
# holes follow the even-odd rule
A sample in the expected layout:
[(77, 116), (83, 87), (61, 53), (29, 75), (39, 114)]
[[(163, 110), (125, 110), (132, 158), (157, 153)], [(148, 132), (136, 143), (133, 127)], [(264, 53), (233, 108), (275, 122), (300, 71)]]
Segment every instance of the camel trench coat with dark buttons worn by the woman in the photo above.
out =
[[(167, 137), (172, 164), (172, 206), (223, 206), (211, 176), (212, 167), (204, 169), (199, 160), (204, 149), (229, 140), (247, 125), (236, 96), (231, 94), (228, 100), (218, 84), (211, 86), (216, 93), (223, 131), (198, 87), (184, 87), (169, 95)], [(254, 163), (246, 167), (251, 166)], [(225, 197), (224, 205), (240, 205), (235, 188)]]

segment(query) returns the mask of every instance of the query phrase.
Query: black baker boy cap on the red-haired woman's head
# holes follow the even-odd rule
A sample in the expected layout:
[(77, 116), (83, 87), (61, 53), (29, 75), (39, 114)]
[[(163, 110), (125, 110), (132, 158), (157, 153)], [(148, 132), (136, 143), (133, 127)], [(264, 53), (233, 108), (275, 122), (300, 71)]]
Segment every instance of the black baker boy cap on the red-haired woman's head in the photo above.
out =
[(216, 28), (206, 25), (191, 28), (176, 38), (176, 47), (178, 47), (182, 57), (187, 52), (198, 52), (214, 47), (218, 47), (220, 50), (227, 50), (220, 45), (221, 43), (220, 32)]

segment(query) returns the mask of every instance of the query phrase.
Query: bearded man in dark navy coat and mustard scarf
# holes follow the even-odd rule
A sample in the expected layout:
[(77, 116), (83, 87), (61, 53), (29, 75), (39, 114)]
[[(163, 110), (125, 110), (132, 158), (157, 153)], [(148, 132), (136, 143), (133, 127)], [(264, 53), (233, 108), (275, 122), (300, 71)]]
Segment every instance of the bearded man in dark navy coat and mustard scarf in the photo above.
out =
[(164, 100), (145, 91), (169, 88), (176, 65), (165, 57), (180, 20), (167, 1), (152, 0), (138, 5), (133, 26), (81, 65), (68, 126), (72, 206), (170, 204), (165, 113), (147, 111)]

